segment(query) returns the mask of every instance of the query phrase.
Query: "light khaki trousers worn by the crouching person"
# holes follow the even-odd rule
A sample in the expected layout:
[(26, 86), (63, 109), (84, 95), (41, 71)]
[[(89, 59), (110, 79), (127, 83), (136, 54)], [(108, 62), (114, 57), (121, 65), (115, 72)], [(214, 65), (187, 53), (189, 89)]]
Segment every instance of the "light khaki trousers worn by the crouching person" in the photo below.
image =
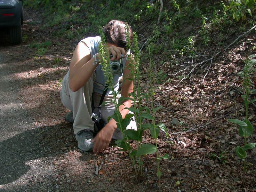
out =
[[(69, 88), (69, 71), (62, 79), (60, 99), (66, 108), (73, 111), (73, 130), (75, 134), (84, 129), (94, 131), (94, 123), (92, 121), (92, 95), (95, 107), (99, 105), (101, 98), (101, 94), (93, 93), (93, 82), (95, 76), (96, 74), (93, 73), (87, 83), (76, 92), (72, 92)], [(114, 103), (110, 102), (111, 99), (113, 99), (112, 95), (105, 96), (103, 101), (107, 101), (108, 103), (101, 108), (101, 117), (105, 124), (108, 123), (108, 117), (113, 115), (115, 110)], [(93, 112), (98, 114), (98, 108), (95, 108)], [(129, 113), (132, 112), (130, 111)], [(136, 130), (137, 128), (135, 121), (131, 121), (126, 129)], [(117, 128), (113, 133), (112, 138), (122, 139), (122, 132), (120, 132), (120, 130)]]

